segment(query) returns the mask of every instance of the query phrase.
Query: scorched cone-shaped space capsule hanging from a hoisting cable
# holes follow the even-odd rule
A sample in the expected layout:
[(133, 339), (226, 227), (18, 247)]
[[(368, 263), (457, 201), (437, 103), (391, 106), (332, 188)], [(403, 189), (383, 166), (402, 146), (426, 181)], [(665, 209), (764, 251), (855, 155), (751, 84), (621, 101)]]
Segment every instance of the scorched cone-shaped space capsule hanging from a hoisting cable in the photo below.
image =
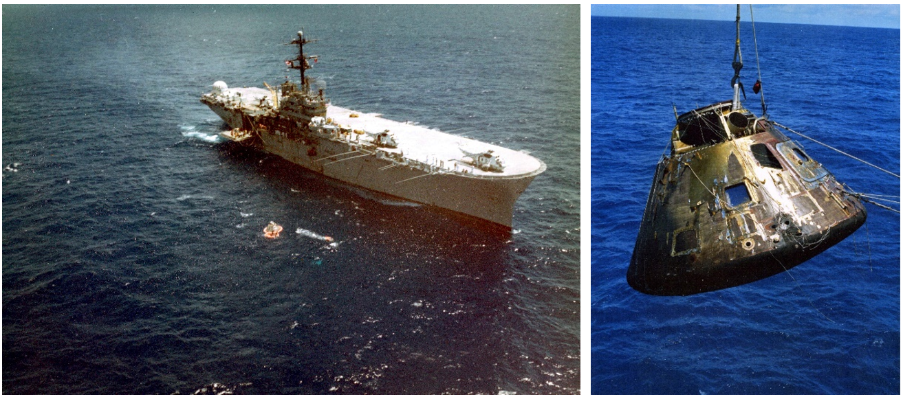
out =
[(739, 5), (732, 67), (731, 100), (675, 110), (671, 153), (656, 167), (628, 268), (639, 292), (690, 295), (751, 283), (865, 223), (860, 200), (768, 119), (764, 95), (762, 116), (743, 107)]

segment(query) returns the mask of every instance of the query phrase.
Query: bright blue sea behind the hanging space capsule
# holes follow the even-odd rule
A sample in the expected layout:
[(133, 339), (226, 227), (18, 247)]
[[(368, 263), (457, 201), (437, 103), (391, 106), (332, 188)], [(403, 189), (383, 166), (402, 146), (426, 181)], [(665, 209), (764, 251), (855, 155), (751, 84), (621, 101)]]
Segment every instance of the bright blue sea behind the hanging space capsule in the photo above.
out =
[[(745, 6), (743, 20), (740, 81), (759, 115)], [(756, 283), (686, 297), (628, 286), (672, 104), (731, 98), (736, 29), (593, 16), (591, 31), (591, 393), (899, 394), (898, 213), (869, 204), (851, 237)], [(899, 30), (756, 23), (756, 35), (773, 120), (899, 173)], [(787, 135), (852, 190), (899, 196), (897, 177)]]

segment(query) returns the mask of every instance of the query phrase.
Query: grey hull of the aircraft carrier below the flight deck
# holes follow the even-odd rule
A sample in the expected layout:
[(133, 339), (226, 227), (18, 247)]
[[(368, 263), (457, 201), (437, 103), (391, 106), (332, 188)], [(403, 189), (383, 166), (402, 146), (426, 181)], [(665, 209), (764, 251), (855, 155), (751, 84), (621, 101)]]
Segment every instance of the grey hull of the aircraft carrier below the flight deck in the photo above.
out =
[[(241, 128), (242, 113), (208, 104), (232, 128)], [(264, 127), (264, 126), (262, 126)], [(543, 167), (515, 176), (474, 176), (424, 172), (386, 159), (378, 153), (353, 153), (358, 145), (322, 137), (298, 140), (271, 129), (256, 130), (252, 146), (313, 172), (368, 190), (449, 209), (510, 229), (514, 204)], [(352, 153), (352, 154), (349, 154)]]

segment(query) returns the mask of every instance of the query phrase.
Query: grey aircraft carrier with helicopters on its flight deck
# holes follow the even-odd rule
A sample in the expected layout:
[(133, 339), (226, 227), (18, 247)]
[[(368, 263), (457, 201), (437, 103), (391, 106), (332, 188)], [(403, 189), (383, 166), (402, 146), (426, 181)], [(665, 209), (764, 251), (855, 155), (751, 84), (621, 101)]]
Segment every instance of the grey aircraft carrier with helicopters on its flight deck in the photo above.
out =
[(229, 88), (223, 81), (200, 101), (231, 127), (219, 135), (274, 153), (313, 172), (405, 200), (450, 209), (489, 226), (511, 228), (514, 203), (545, 163), (520, 151), (337, 107), (304, 71), (317, 56), (298, 32), (299, 84)]

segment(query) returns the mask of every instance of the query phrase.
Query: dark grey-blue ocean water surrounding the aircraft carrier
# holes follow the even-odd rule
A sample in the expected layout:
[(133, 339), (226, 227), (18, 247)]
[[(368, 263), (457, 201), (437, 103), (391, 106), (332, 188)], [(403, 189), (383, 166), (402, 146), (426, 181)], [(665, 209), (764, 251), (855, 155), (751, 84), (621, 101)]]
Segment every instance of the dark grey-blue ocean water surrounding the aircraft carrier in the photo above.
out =
[[(579, 393), (579, 8), (5, 5), (3, 392)], [(335, 104), (545, 161), (512, 233), (221, 143), (301, 28)]]

